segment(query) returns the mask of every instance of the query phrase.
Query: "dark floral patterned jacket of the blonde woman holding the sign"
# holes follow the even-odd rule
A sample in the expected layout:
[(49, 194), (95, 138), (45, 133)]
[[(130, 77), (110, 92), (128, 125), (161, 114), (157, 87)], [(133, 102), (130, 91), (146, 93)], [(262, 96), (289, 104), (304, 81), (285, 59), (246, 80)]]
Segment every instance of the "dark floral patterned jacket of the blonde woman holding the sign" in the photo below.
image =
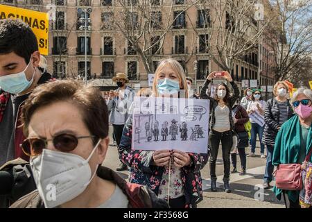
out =
[[(123, 128), (119, 145), (119, 158), (130, 167), (130, 182), (147, 185), (158, 195), (164, 167), (151, 165), (153, 151), (135, 151), (131, 148), (132, 117), (129, 117)], [(202, 178), (200, 170), (207, 164), (208, 155), (189, 153), (192, 164), (182, 167), (182, 182), (186, 199), (185, 207), (196, 207), (202, 200)]]

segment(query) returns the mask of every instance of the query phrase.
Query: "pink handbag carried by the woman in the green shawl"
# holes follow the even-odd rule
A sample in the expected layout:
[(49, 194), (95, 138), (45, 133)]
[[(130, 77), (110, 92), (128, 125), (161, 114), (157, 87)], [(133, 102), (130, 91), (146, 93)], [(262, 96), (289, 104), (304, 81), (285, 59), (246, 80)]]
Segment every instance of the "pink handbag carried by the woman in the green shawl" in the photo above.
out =
[[(305, 162), (310, 160), (312, 148), (306, 155)], [(279, 164), (275, 173), (275, 186), (279, 189), (301, 190), (302, 189), (302, 166), (301, 164)]]

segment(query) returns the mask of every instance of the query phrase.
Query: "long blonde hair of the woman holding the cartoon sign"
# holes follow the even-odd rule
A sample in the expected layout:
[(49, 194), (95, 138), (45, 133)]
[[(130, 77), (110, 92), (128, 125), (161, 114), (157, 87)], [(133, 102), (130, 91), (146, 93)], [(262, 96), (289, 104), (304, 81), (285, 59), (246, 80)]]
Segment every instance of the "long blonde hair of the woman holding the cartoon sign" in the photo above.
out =
[(158, 96), (158, 92), (157, 92), (157, 76), (159, 76), (160, 71), (162, 71), (162, 69), (164, 68), (164, 66), (166, 65), (170, 65), (171, 68), (175, 71), (175, 73), (177, 74), (180, 83), (182, 83), (182, 89), (185, 89), (185, 98), (189, 98), (189, 93), (187, 92), (187, 78), (185, 77), (185, 73), (184, 73), (184, 69), (182, 67), (182, 65), (180, 64), (180, 62), (177, 62), (177, 60), (173, 59), (173, 58), (167, 58), (165, 60), (162, 60), (161, 62), (159, 62), (159, 65), (155, 71), (155, 78), (153, 80), (153, 94), (155, 96)]

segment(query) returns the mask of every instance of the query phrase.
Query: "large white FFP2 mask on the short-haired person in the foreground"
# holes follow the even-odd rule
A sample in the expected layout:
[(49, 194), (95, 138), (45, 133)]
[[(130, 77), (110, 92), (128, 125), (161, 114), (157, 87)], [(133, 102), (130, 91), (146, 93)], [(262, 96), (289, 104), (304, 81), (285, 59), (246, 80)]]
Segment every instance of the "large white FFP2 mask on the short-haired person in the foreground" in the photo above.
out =
[(87, 160), (73, 153), (48, 149), (44, 149), (41, 155), (31, 158), (33, 177), (45, 207), (62, 205), (85, 191), (96, 175), (97, 167), (91, 175), (89, 160), (100, 142), (101, 139)]

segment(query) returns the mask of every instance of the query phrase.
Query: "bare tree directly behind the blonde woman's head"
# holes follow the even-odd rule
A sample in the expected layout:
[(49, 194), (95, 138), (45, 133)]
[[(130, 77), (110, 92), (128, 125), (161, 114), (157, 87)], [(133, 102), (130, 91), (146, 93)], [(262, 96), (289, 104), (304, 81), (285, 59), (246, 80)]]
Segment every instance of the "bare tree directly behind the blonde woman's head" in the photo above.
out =
[[(116, 31), (128, 41), (125, 53), (137, 53), (145, 71), (153, 73), (153, 58), (163, 52), (166, 35), (175, 26), (177, 19), (199, 1), (189, 1), (180, 7), (178, 13), (173, 12), (175, 1), (159, 0), (116, 0), (114, 8), (105, 6), (105, 10), (114, 16)], [(179, 28), (186, 27), (177, 27), (177, 30)]]

